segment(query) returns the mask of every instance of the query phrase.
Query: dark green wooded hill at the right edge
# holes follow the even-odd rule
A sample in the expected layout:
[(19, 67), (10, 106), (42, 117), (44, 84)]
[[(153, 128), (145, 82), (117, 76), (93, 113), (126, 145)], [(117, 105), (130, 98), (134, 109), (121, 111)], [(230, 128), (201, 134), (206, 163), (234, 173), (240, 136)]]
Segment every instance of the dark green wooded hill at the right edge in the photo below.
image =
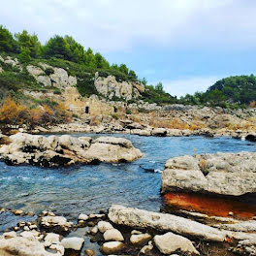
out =
[(224, 108), (254, 107), (256, 77), (237, 76), (216, 81), (206, 92), (181, 97), (180, 102), (191, 105), (220, 106)]

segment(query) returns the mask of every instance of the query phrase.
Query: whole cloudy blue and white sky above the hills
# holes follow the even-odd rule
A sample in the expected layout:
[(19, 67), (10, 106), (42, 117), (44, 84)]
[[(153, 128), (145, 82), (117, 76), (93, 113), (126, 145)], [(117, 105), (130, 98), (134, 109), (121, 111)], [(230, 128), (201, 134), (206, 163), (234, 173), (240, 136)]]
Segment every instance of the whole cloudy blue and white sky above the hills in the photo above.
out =
[(255, 0), (0, 0), (0, 24), (71, 35), (176, 96), (256, 74)]

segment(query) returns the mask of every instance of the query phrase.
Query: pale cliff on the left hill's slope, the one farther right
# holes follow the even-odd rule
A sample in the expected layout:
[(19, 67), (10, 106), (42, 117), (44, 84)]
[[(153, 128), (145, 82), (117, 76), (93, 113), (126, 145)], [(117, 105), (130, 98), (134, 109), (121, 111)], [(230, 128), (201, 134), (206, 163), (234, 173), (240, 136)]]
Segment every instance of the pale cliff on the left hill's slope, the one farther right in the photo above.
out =
[(99, 77), (98, 73), (95, 75), (94, 85), (99, 93), (109, 99), (116, 97), (128, 101), (138, 98), (144, 92), (144, 84), (139, 81), (117, 81), (113, 76)]

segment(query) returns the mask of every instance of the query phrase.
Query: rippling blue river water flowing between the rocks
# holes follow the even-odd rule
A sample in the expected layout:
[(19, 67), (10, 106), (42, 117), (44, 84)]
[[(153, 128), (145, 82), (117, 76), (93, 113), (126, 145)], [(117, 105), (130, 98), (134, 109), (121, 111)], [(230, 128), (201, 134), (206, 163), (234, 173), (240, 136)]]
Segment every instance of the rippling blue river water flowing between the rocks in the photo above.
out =
[[(72, 134), (72, 136), (106, 136)], [(0, 207), (40, 212), (44, 209), (76, 218), (80, 212), (97, 212), (112, 204), (159, 211), (161, 171), (175, 156), (194, 153), (256, 151), (256, 144), (231, 138), (124, 137), (144, 157), (122, 164), (78, 165), (42, 169), (0, 163)]]

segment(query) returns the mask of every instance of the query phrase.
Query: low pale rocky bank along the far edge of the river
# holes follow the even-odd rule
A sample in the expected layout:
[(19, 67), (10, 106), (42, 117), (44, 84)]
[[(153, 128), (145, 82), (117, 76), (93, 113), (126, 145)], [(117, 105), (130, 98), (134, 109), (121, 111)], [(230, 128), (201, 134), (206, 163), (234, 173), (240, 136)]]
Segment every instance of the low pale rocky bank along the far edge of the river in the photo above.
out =
[[(25, 131), (25, 129), (20, 129)], [(90, 125), (83, 122), (73, 122), (68, 124), (58, 124), (48, 128), (36, 127), (29, 131), (32, 134), (50, 134), (50, 133), (96, 133), (96, 134), (133, 134), (139, 136), (156, 137), (182, 137), (182, 136), (206, 136), (206, 137), (233, 137), (241, 140), (256, 141), (256, 133), (253, 129), (232, 130), (227, 128), (211, 129), (170, 129), (156, 128), (149, 125), (143, 125), (130, 120), (120, 120), (117, 122), (101, 123), (99, 125)]]

